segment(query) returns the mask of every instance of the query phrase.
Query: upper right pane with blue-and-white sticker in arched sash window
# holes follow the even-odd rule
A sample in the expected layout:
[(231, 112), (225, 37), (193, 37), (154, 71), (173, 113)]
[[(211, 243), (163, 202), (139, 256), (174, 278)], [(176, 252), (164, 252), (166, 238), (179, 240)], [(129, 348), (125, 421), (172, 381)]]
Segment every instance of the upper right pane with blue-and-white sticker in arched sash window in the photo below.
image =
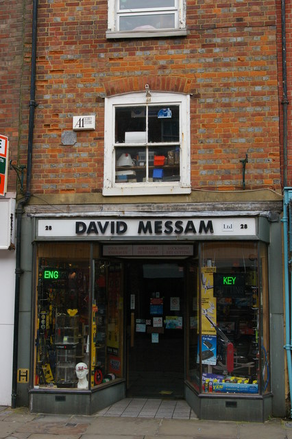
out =
[(179, 106), (160, 105), (149, 107), (149, 142), (157, 143), (180, 141), (179, 115)]

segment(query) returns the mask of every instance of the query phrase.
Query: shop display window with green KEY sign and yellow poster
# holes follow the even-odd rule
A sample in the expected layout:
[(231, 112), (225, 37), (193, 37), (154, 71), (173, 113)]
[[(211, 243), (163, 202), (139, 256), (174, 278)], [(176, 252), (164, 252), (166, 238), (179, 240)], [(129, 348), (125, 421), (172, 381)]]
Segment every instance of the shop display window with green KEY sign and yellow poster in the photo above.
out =
[(188, 380), (202, 393), (268, 392), (267, 248), (202, 244), (193, 287)]

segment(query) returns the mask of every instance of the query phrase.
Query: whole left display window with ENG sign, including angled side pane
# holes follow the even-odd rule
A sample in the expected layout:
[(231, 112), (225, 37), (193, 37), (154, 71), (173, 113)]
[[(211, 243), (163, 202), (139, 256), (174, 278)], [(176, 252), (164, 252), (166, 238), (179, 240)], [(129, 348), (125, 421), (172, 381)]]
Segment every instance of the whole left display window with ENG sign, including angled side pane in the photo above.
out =
[(121, 264), (91, 244), (39, 244), (35, 388), (87, 390), (122, 377)]

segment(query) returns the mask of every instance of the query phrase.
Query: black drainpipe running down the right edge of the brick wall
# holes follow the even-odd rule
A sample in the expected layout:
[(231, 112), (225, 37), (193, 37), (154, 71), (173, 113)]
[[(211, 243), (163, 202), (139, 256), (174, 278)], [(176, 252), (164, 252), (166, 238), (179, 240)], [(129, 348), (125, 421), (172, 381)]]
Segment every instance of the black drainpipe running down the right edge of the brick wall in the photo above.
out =
[(286, 62), (286, 21), (285, 0), (281, 5), (282, 23), (282, 80), (283, 80), (283, 186), (287, 186), (287, 125), (288, 125), (288, 97), (287, 97), (287, 62)]

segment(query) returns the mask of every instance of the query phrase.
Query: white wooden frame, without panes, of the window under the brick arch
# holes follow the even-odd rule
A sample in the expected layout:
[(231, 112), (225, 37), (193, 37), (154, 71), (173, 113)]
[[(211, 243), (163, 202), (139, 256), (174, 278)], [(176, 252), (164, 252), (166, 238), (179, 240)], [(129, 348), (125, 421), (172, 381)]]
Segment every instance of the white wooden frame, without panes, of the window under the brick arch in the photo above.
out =
[[(149, 99), (149, 98), (148, 98)], [(190, 96), (151, 91), (150, 104), (180, 106), (180, 181), (115, 182), (115, 108), (147, 105), (146, 93), (127, 93), (105, 99), (103, 195), (167, 195), (191, 193)]]

